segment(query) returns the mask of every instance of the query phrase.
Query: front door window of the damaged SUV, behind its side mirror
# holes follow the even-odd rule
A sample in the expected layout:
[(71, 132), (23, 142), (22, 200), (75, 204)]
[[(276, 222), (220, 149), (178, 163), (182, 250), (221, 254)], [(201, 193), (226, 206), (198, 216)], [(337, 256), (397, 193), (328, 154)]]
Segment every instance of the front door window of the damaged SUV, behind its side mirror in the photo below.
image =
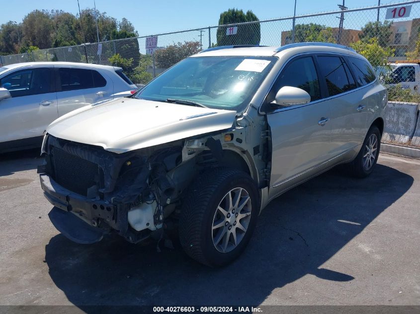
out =
[(276, 93), (283, 86), (298, 87), (311, 96), (311, 101), (321, 99), (321, 89), (312, 57), (299, 58), (286, 65), (270, 93), (267, 103), (275, 99)]

